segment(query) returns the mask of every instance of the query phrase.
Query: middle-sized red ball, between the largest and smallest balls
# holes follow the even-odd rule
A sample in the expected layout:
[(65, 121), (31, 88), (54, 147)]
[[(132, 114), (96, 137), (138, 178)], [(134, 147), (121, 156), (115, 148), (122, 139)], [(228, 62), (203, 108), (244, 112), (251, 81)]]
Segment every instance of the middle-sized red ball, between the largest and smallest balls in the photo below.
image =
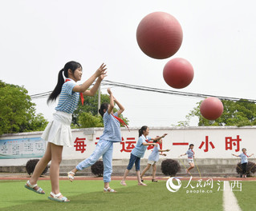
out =
[(193, 80), (193, 66), (184, 58), (173, 58), (163, 71), (165, 82), (176, 89), (182, 89)]

